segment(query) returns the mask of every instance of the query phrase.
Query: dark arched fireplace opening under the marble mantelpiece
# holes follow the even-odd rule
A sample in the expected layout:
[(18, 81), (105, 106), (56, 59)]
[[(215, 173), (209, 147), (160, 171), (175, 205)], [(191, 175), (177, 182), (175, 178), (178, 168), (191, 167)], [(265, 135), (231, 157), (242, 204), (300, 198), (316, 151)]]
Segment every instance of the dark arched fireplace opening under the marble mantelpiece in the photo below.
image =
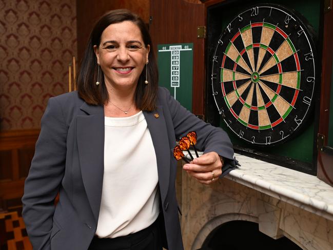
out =
[(207, 236), (198, 250), (302, 250), (286, 237), (272, 239), (259, 231), (259, 224), (250, 221), (229, 221), (218, 226)]

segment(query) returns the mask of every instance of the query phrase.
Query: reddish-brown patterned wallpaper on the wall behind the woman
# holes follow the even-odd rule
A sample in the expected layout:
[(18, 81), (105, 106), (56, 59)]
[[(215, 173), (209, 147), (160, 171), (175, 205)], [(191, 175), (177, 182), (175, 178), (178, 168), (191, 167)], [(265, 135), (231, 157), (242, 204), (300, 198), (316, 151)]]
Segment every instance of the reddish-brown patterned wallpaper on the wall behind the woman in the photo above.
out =
[(0, 131), (40, 128), (73, 55), (75, 0), (0, 0)]

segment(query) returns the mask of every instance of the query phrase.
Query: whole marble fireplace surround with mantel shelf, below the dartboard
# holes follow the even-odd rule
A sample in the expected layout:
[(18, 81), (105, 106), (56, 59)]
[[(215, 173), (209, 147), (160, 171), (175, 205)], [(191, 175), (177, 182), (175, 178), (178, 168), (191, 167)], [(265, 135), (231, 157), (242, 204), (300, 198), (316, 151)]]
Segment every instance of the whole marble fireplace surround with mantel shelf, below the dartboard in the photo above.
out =
[(285, 236), (304, 250), (333, 249), (333, 187), (296, 170), (236, 158), (241, 166), (211, 185), (178, 169), (186, 250), (199, 249), (215, 228), (235, 220), (258, 223), (260, 232)]

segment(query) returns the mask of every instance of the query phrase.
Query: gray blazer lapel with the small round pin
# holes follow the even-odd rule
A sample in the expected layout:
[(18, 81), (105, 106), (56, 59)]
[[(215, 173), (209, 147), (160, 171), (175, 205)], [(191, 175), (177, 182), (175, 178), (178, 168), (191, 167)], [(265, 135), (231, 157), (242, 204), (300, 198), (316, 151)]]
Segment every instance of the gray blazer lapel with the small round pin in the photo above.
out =
[(155, 149), (161, 199), (163, 204), (168, 192), (170, 178), (170, 148), (163, 108), (162, 106), (158, 106), (156, 111), (144, 111), (143, 113)]

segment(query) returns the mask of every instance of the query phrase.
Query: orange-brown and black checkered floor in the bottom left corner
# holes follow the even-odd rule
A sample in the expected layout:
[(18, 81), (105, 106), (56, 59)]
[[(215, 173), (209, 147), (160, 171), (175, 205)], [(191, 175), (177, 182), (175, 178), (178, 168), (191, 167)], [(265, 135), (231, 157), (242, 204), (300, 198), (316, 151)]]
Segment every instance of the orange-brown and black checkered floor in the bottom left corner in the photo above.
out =
[(21, 209), (0, 213), (0, 249), (30, 250), (27, 231), (21, 216)]

